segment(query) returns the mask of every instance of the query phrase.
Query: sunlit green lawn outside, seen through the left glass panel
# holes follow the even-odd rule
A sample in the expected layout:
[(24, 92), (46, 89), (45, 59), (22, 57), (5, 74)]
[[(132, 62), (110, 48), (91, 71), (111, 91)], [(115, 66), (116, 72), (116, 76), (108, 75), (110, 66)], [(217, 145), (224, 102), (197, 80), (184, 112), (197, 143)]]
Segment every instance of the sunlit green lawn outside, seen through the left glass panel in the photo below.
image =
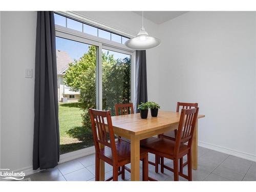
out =
[(60, 154), (93, 145), (90, 130), (82, 126), (82, 112), (78, 104), (79, 102), (59, 103)]

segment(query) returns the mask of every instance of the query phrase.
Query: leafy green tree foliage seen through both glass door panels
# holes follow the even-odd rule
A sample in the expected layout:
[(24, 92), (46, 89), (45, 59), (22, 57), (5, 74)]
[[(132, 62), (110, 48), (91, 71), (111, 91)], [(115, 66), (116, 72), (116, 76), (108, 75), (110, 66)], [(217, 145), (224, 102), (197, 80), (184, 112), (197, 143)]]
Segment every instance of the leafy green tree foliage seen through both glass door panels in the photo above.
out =
[[(102, 108), (114, 115), (115, 103), (131, 100), (131, 58), (115, 59), (102, 53)], [(80, 92), (79, 107), (83, 125), (91, 127), (89, 108), (96, 108), (96, 46), (89, 46), (88, 53), (70, 63), (64, 75), (64, 83), (72, 91)]]

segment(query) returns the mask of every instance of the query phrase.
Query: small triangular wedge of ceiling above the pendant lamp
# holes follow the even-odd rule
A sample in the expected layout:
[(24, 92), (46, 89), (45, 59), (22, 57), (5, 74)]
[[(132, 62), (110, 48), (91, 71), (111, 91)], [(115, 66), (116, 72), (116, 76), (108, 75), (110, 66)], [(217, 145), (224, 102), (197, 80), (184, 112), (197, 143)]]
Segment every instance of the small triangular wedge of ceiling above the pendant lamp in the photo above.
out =
[[(133, 11), (139, 15), (142, 15), (142, 11)], [(167, 20), (178, 17), (188, 11), (144, 11), (144, 17), (151, 20), (155, 24), (162, 24)]]

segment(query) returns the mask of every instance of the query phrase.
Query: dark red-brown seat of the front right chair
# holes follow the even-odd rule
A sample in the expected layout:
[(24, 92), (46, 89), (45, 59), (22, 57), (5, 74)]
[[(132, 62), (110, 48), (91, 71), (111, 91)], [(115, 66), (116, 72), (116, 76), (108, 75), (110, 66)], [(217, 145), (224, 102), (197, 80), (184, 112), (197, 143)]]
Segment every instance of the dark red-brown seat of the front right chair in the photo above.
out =
[[(174, 156), (175, 141), (165, 139), (165, 138), (157, 138), (157, 139), (148, 138), (143, 143), (141, 143), (141, 147), (148, 150), (149, 153), (153, 153), (153, 154), (168, 158), (170, 156)], [(188, 152), (187, 145), (180, 144), (179, 156), (182, 156), (187, 152)]]

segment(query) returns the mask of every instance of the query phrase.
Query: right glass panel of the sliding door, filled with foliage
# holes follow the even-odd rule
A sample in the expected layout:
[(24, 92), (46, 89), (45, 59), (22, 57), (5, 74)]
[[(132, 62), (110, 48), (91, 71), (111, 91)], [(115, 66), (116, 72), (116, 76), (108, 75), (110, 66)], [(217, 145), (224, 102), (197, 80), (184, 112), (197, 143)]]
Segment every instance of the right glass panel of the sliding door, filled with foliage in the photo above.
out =
[(102, 109), (131, 102), (131, 55), (102, 49)]

